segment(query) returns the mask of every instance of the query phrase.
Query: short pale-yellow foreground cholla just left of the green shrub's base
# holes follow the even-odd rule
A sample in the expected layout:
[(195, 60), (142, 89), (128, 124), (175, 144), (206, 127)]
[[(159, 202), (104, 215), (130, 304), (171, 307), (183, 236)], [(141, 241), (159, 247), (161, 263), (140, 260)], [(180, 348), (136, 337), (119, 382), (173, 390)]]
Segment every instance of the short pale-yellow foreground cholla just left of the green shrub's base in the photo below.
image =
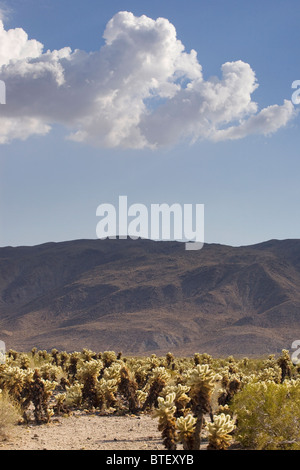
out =
[(235, 424), (228, 414), (214, 415), (213, 423), (206, 424), (208, 432), (207, 450), (226, 450), (232, 441), (230, 433)]

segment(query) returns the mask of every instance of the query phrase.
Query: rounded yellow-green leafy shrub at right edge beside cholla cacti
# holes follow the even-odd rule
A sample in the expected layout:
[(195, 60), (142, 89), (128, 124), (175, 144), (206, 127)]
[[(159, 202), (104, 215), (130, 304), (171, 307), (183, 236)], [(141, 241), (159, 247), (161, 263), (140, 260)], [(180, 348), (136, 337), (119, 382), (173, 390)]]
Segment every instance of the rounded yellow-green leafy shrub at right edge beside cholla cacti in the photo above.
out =
[(235, 438), (255, 450), (300, 450), (300, 381), (252, 382), (233, 399)]

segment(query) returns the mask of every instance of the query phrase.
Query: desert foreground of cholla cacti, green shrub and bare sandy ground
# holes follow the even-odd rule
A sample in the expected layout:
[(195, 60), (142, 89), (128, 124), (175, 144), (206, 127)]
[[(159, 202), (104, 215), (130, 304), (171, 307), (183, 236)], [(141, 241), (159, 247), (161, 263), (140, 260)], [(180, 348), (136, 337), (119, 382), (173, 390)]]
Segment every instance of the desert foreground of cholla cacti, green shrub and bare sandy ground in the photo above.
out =
[(297, 450), (299, 374), (287, 350), (260, 360), (9, 350), (0, 448)]

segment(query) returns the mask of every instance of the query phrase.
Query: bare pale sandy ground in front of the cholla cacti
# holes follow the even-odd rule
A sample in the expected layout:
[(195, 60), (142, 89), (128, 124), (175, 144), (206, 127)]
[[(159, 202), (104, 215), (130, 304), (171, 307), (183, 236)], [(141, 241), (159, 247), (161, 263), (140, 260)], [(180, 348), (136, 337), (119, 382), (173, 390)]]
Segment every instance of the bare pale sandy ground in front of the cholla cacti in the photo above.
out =
[[(157, 419), (76, 413), (40, 426), (20, 425), (0, 450), (163, 450)], [(182, 449), (178, 445), (178, 450)]]

